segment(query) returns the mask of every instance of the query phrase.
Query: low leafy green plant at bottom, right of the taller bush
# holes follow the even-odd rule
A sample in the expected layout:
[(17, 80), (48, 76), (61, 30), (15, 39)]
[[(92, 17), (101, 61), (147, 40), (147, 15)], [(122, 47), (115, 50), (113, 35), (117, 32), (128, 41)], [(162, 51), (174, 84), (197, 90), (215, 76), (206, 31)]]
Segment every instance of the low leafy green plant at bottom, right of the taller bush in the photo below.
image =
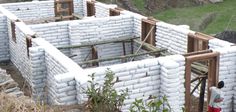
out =
[(166, 96), (157, 99), (157, 97), (150, 96), (150, 101), (144, 103), (143, 99), (135, 99), (131, 104), (130, 112), (171, 112), (171, 107)]

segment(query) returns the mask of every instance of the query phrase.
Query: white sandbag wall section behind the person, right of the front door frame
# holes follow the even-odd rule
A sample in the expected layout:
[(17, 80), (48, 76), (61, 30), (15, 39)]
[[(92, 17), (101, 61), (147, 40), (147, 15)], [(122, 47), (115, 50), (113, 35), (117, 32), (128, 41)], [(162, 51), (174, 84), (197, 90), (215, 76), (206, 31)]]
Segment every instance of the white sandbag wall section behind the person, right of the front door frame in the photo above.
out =
[(233, 98), (235, 98), (236, 47), (213, 50), (220, 52), (219, 80), (225, 83), (224, 88), (222, 88), (222, 96), (224, 98), (222, 109), (224, 112), (231, 112), (234, 107), (232, 105)]

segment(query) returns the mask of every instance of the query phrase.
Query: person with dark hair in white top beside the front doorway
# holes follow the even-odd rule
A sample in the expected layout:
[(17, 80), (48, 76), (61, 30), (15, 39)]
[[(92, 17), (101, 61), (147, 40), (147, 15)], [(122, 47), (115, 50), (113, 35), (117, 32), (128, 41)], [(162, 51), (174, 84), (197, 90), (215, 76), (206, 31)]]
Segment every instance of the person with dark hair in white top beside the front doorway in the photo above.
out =
[(221, 111), (221, 102), (224, 98), (221, 95), (221, 88), (224, 87), (224, 82), (220, 81), (217, 87), (211, 87), (211, 97), (208, 105), (208, 112), (220, 112)]

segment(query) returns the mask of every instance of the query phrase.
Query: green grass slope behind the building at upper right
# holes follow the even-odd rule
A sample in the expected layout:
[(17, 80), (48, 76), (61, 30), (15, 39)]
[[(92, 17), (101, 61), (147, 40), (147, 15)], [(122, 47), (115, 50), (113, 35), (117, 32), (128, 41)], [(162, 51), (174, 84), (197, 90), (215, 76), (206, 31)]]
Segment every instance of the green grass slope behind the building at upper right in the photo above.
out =
[[(223, 3), (206, 4), (196, 7), (173, 8), (166, 11), (155, 12), (153, 16), (159, 20), (173, 24), (187, 24), (197, 31), (197, 25), (209, 13), (216, 13), (216, 18), (201, 32), (215, 34), (225, 29), (236, 30), (236, 1), (225, 0)], [(229, 24), (230, 19), (233, 21)], [(228, 25), (229, 24), (229, 25)]]

